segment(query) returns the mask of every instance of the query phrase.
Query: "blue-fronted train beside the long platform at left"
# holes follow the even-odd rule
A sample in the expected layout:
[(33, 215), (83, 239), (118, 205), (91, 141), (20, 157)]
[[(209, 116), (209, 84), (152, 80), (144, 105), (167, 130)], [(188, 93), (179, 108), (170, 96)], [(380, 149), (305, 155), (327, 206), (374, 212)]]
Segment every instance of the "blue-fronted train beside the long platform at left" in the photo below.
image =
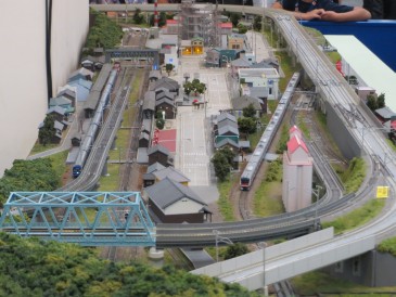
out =
[(115, 81), (117, 79), (117, 75), (120, 69), (120, 64), (115, 63), (113, 66), (112, 72), (110, 73), (106, 86), (103, 89), (102, 95), (100, 98), (97, 111), (92, 117), (91, 124), (89, 126), (88, 132), (86, 137), (84, 138), (82, 144), (80, 146), (80, 150), (78, 152), (76, 162), (73, 166), (72, 176), (73, 178), (78, 178), (81, 172), (84, 165), (87, 160), (87, 157), (89, 155), (89, 152), (93, 145), (93, 142), (97, 138), (98, 129), (102, 125), (102, 117), (103, 117), (103, 109), (107, 106), (111, 93), (113, 91), (113, 87), (115, 85)]

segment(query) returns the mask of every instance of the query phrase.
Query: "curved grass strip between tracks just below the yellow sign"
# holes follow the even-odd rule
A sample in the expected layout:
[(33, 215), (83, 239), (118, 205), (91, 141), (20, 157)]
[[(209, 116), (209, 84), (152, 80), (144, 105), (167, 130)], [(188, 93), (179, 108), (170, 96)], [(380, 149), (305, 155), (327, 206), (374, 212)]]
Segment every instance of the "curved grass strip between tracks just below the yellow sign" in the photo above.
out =
[(357, 208), (344, 217), (340, 217), (334, 221), (323, 222), (322, 228), (334, 227), (334, 233), (341, 234), (348, 230), (356, 229), (365, 223), (374, 219), (380, 215), (381, 210), (385, 206), (385, 201), (383, 199), (371, 199), (366, 203), (362, 207)]

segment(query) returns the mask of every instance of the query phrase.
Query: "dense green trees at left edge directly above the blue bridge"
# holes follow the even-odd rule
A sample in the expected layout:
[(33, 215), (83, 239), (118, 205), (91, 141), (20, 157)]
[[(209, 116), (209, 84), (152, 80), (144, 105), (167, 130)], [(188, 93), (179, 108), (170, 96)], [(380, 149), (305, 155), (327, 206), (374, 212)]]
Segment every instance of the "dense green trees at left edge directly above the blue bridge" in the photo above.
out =
[(48, 192), (60, 185), (61, 179), (53, 169), (51, 159), (16, 159), (0, 179), (0, 205), (3, 205), (11, 192)]

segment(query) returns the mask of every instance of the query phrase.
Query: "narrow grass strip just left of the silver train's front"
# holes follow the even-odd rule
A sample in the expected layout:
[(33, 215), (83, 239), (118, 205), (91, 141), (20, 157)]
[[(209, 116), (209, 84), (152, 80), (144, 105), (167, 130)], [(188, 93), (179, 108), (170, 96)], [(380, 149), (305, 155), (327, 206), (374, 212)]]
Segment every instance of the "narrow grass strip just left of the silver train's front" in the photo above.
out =
[(235, 183), (239, 183), (238, 175), (231, 175), (231, 177), (226, 181), (217, 183), (217, 189), (219, 191), (219, 199), (217, 201), (217, 205), (222, 219), (228, 222), (235, 220), (232, 203), (230, 202), (230, 191)]

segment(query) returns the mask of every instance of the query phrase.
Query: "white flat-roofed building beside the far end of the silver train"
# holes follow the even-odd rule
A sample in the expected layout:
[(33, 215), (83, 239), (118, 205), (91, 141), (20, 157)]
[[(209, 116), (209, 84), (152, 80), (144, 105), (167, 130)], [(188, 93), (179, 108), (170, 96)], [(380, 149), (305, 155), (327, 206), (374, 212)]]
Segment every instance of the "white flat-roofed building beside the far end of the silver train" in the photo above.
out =
[(239, 83), (251, 87), (268, 88), (268, 100), (279, 98), (280, 76), (276, 68), (239, 68)]

